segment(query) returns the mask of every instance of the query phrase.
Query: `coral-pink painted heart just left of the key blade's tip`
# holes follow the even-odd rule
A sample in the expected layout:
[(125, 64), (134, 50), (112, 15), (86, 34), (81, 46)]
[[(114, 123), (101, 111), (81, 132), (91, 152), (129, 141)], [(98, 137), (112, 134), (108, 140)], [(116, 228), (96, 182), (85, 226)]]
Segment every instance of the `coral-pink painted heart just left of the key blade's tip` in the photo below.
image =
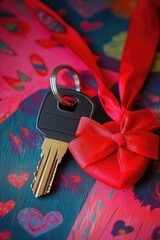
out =
[(11, 173), (8, 175), (8, 181), (10, 182), (10, 184), (20, 189), (26, 183), (29, 177), (29, 172), (24, 172), (20, 175)]

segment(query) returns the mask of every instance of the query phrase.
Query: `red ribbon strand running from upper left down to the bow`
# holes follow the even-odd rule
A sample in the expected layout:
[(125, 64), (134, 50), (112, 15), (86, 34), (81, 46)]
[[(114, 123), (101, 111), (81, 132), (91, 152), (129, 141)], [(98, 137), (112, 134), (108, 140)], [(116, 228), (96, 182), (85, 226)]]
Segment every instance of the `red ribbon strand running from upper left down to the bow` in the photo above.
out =
[(34, 4), (29, 0), (25, 0), (26, 5), (32, 10), (35, 14), (36, 9), (42, 9), (53, 18), (57, 19), (67, 30), (65, 33), (58, 33), (55, 31), (51, 31), (43, 26), (41, 26), (47, 30), (57, 42), (67, 46), (70, 48), (91, 70), (91, 72), (96, 76), (98, 83), (98, 94), (101, 100), (102, 105), (104, 106), (107, 114), (113, 118), (115, 121), (119, 121), (122, 117), (122, 109), (120, 104), (112, 91), (109, 89), (107, 85), (107, 81), (103, 79), (101, 74), (101, 69), (97, 66), (95, 57), (87, 44), (84, 42), (82, 37), (78, 34), (78, 32), (69, 26), (60, 16), (58, 16), (53, 10), (46, 7), (40, 1), (34, 1)]

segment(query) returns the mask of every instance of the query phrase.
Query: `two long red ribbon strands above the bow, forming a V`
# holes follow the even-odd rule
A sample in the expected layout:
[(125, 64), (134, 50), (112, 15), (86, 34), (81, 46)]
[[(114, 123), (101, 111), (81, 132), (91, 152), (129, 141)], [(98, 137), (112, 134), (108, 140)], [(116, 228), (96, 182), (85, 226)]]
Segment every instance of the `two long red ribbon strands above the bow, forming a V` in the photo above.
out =
[(52, 16), (64, 27), (64, 32), (58, 32), (40, 22), (42, 28), (58, 43), (70, 48), (89, 67), (97, 79), (98, 95), (104, 110), (113, 120), (120, 121), (124, 113), (123, 107), (131, 109), (135, 96), (143, 86), (158, 45), (160, 26), (153, 1), (139, 0), (130, 21), (120, 67), (119, 92), (122, 104), (107, 87), (107, 80), (104, 79), (101, 68), (97, 66), (93, 53), (79, 33), (40, 1), (24, 1), (38, 21), (36, 12), (40, 9), (48, 14), (48, 19), (45, 16), (46, 21), (50, 23)]

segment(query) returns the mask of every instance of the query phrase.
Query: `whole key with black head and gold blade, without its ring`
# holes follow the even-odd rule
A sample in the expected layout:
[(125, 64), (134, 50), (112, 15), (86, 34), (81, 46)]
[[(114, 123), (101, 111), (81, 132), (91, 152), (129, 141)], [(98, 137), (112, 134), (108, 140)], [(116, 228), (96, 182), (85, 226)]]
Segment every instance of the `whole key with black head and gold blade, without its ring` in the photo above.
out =
[(60, 105), (52, 92), (49, 92), (39, 111), (37, 128), (44, 136), (41, 160), (31, 185), (35, 197), (50, 192), (55, 173), (68, 143), (76, 138), (75, 133), (82, 116), (92, 117), (95, 105), (86, 95), (69, 89), (60, 89), (62, 96), (76, 99), (73, 107)]

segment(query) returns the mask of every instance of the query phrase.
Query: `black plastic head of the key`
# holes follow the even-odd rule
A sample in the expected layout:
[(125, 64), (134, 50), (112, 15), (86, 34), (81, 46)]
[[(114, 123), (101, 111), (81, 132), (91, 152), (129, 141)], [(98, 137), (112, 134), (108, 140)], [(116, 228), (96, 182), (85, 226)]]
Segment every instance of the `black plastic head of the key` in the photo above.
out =
[(41, 105), (37, 128), (46, 138), (70, 142), (76, 138), (80, 118), (92, 118), (95, 105), (88, 96), (80, 92), (69, 89), (60, 89), (59, 92), (62, 96), (75, 98), (77, 103), (74, 107), (63, 107), (53, 93), (49, 92)]

